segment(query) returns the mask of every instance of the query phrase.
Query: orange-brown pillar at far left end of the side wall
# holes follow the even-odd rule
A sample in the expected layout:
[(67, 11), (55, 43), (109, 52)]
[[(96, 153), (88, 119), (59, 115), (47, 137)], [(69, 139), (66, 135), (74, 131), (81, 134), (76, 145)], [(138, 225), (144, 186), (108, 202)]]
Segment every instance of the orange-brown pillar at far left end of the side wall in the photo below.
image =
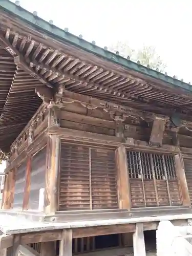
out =
[(13, 206), (15, 188), (15, 169), (11, 170), (5, 177), (3, 190), (2, 209), (11, 209)]

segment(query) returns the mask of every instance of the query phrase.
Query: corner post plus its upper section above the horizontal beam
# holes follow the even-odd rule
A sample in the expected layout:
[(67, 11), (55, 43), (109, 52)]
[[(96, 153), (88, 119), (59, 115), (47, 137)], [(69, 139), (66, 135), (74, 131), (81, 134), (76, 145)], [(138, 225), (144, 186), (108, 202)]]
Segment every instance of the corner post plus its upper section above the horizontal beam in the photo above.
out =
[[(48, 127), (60, 126), (59, 108), (56, 104), (49, 105)], [(45, 207), (46, 215), (55, 215), (58, 210), (58, 179), (60, 162), (60, 138), (58, 135), (49, 135), (50, 148), (48, 152), (48, 168), (46, 174)]]

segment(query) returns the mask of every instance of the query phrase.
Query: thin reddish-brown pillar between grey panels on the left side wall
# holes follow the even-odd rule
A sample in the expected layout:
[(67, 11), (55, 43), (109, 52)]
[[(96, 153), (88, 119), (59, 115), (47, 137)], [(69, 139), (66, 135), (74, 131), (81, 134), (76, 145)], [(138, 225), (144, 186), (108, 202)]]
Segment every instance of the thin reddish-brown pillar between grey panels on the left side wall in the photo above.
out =
[(30, 194), (30, 186), (31, 186), (31, 156), (28, 156), (27, 159), (27, 169), (26, 169), (26, 182), (25, 182), (25, 189), (24, 189), (24, 200), (23, 200), (23, 210), (28, 209), (29, 204), (29, 194)]

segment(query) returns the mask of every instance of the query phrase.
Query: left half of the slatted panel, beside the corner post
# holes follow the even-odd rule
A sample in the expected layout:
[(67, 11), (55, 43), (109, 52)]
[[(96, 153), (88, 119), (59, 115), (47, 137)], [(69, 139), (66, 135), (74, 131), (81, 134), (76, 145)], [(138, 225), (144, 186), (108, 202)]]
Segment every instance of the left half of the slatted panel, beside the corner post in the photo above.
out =
[(59, 209), (90, 209), (89, 147), (61, 143)]

